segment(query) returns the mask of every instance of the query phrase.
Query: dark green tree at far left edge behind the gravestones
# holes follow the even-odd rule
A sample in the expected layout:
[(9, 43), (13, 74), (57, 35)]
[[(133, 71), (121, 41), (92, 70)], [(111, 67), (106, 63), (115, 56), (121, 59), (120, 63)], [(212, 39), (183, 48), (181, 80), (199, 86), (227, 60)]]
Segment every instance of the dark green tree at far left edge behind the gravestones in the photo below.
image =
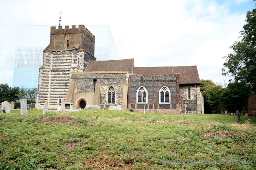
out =
[(8, 84), (0, 84), (0, 103), (4, 101), (12, 102), (19, 98), (16, 94), (19, 93), (19, 87), (9, 87)]

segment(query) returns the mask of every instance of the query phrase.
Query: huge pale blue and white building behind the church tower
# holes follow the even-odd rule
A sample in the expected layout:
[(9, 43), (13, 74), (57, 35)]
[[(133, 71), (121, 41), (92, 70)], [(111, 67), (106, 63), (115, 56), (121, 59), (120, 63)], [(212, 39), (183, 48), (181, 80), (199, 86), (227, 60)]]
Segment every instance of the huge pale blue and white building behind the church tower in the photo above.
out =
[[(95, 35), (97, 60), (119, 59), (108, 26), (85, 27)], [(50, 43), (50, 29), (51, 26), (16, 26), (13, 86), (38, 88), (39, 68), (43, 65), (43, 51)]]

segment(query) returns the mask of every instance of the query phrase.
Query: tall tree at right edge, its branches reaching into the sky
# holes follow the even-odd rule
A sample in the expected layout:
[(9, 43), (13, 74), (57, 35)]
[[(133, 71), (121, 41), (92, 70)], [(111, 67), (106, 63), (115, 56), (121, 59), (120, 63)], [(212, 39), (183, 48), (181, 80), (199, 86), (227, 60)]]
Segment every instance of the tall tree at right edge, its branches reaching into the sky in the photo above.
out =
[(247, 12), (245, 21), (242, 39), (230, 47), (233, 52), (223, 57), (222, 74), (230, 75), (233, 82), (244, 82), (256, 92), (256, 9)]

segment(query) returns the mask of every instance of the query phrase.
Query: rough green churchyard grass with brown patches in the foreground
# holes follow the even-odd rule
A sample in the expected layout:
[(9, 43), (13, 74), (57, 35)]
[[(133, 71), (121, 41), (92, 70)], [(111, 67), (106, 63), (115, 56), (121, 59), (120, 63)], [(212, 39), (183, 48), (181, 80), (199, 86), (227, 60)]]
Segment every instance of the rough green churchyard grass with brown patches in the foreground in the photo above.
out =
[[(12, 110), (0, 115), (0, 169), (255, 169), (256, 119), (241, 119), (110, 110), (20, 115)], [(250, 164), (236, 164), (245, 158)], [(227, 163), (168, 163), (205, 159)]]

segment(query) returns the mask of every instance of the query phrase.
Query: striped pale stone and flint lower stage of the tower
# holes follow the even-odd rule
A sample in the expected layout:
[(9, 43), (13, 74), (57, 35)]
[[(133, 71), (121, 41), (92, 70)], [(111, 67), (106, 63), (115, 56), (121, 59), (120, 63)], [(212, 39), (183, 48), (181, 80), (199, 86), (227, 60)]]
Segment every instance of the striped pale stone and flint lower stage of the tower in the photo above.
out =
[(90, 57), (85, 51), (77, 49), (44, 53), (44, 64), (39, 69), (36, 107), (43, 108), (47, 102), (49, 108), (57, 108), (58, 100), (67, 96), (70, 72), (84, 71)]

